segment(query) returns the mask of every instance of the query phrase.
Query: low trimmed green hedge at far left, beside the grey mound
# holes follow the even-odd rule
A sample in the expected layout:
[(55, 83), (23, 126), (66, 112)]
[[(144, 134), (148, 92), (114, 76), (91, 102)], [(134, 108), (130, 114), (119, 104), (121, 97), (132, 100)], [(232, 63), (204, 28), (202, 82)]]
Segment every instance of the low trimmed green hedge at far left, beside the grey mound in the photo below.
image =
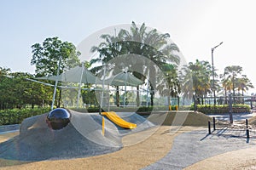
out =
[(49, 108), (9, 109), (0, 111), (0, 125), (20, 124), (24, 119), (49, 112)]

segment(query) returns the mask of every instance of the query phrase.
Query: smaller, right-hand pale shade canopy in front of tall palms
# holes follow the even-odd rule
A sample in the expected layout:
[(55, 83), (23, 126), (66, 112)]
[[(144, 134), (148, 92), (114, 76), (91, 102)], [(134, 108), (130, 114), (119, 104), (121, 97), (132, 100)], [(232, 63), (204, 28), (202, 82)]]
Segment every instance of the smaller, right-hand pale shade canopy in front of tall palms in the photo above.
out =
[(120, 72), (119, 74), (105, 80), (105, 84), (108, 84), (111, 86), (137, 87), (138, 85), (142, 85), (143, 81), (141, 81), (137, 77), (134, 77), (129, 72)]

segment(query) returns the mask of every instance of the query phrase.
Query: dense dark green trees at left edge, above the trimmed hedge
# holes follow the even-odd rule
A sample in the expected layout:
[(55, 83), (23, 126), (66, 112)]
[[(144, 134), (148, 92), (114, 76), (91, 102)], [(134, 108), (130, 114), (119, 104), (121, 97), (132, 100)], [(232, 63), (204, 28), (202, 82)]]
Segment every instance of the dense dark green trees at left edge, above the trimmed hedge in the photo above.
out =
[(23, 72), (9, 73), (8, 77), (0, 75), (0, 110), (50, 104), (53, 89), (26, 78), (33, 76)]

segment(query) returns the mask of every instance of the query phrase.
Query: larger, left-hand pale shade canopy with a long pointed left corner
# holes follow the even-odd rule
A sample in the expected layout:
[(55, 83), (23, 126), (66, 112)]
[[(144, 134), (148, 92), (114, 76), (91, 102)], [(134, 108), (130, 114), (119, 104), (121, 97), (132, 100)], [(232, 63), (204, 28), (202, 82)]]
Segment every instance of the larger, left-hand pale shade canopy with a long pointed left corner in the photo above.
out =
[(95, 84), (96, 76), (88, 71), (83, 66), (76, 66), (69, 71), (61, 73), (59, 76), (51, 77), (38, 77), (38, 80), (52, 80), (52, 81), (61, 81), (61, 82), (81, 82)]

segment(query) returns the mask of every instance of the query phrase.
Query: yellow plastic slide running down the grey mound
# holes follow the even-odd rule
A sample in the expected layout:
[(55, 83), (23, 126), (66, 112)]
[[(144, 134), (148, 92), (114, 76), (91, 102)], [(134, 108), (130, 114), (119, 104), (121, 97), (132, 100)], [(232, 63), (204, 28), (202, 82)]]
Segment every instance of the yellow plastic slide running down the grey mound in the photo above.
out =
[(108, 119), (110, 119), (112, 122), (117, 124), (119, 127), (124, 127), (124, 128), (135, 128), (137, 127), (137, 124), (131, 123), (131, 122), (126, 122), (124, 119), (119, 117), (115, 112), (110, 111), (110, 112), (102, 112), (102, 115), (107, 116)]

